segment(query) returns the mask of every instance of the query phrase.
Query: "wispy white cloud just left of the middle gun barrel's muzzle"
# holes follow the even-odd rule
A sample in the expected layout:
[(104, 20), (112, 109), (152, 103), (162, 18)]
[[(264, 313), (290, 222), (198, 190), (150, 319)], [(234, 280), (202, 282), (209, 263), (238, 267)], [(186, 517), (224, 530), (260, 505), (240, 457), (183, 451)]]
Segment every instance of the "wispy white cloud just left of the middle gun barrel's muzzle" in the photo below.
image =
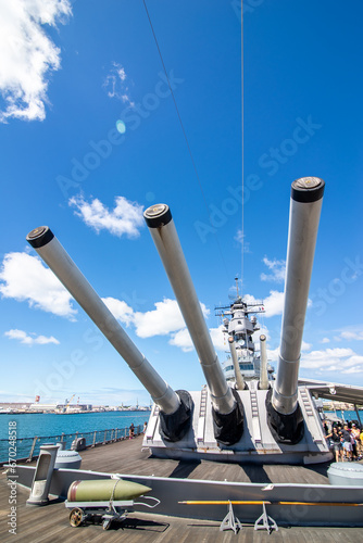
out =
[(73, 197), (68, 204), (76, 207), (75, 214), (97, 233), (109, 230), (114, 236), (137, 238), (143, 227), (142, 205), (130, 202), (124, 197), (115, 198), (116, 205), (110, 211), (100, 200), (95, 198), (86, 202), (83, 197)]

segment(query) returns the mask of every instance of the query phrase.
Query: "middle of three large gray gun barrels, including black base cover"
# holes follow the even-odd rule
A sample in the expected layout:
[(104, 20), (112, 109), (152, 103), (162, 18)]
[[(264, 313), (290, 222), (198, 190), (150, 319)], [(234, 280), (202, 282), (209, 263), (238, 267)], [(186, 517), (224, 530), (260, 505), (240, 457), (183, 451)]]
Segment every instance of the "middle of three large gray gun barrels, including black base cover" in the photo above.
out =
[(215, 353), (201, 306), (191, 281), (172, 213), (166, 204), (152, 205), (143, 213), (184, 320), (199, 356), (211, 393), (215, 439), (226, 445), (239, 441), (243, 431), (243, 411)]

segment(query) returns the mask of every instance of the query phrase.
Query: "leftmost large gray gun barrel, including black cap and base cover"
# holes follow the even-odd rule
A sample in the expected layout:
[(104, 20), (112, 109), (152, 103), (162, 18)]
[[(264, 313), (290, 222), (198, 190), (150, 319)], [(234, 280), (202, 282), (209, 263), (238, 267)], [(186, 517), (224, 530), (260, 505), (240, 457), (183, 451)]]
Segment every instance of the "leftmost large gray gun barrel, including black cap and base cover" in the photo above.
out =
[[(185, 391), (179, 391), (180, 394), (177, 394), (160, 377), (71, 260), (50, 228), (47, 226), (35, 228), (27, 235), (26, 240), (126, 361), (153, 401), (159, 405), (166, 420), (166, 422), (164, 420), (166, 439), (170, 439), (170, 441), (180, 439), (180, 435), (188, 430), (190, 422), (190, 413), (185, 413), (185, 403), (180, 402), (180, 396), (184, 395)], [(183, 412), (182, 416), (180, 411)], [(168, 429), (167, 424), (168, 417), (173, 421), (171, 429)], [(175, 419), (178, 421), (176, 427)], [(163, 424), (161, 426), (163, 427)]]

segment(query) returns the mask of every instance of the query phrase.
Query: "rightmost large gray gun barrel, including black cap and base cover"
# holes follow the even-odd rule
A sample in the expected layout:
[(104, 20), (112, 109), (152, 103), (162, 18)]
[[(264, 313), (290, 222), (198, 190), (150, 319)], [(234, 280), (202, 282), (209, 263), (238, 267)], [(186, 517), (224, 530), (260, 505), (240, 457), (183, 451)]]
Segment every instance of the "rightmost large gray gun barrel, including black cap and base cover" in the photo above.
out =
[(300, 351), (324, 187), (318, 177), (302, 177), (291, 185), (278, 369), (274, 390), (267, 394), (270, 428), (278, 441), (291, 444), (303, 433), (298, 404)]

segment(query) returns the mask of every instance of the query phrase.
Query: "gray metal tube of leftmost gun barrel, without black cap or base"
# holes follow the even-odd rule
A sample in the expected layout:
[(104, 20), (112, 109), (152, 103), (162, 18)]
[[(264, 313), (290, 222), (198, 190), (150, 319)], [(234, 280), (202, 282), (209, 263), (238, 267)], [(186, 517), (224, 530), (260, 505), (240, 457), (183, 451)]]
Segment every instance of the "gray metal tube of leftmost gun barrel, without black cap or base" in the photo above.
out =
[(58, 239), (54, 237), (36, 251), (127, 362), (160, 408), (166, 414), (175, 413), (180, 404), (177, 394), (140, 353)]

